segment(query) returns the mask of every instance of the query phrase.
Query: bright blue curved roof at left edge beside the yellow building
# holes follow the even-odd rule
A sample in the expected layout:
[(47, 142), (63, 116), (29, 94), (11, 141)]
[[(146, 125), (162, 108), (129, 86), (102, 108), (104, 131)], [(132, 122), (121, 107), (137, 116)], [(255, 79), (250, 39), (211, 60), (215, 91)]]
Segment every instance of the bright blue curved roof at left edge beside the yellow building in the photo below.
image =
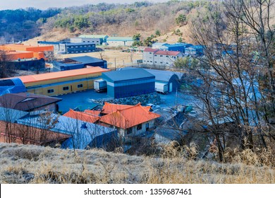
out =
[(26, 92), (23, 82), (20, 78), (11, 78), (0, 80), (0, 95), (4, 95), (6, 93), (20, 93)]

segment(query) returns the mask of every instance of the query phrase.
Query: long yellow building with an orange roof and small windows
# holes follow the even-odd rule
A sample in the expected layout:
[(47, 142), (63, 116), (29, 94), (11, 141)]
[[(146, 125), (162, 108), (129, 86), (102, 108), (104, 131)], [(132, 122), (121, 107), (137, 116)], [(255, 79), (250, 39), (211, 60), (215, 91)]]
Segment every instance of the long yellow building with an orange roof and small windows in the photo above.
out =
[(19, 76), (23, 81), (27, 92), (41, 95), (62, 95), (94, 88), (94, 80), (102, 76), (102, 72), (110, 69), (102, 69), (93, 66), (84, 69)]

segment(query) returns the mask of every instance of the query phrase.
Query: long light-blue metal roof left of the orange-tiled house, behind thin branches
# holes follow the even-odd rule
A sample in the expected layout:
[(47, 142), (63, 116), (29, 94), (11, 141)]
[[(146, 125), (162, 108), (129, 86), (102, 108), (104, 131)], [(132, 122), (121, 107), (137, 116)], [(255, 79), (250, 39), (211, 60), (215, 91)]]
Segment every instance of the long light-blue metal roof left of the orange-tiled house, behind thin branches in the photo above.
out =
[[(51, 114), (51, 119), (58, 120), (54, 127), (50, 129), (51, 131), (72, 135), (70, 139), (63, 142), (62, 148), (84, 149), (95, 138), (97, 138), (97, 136), (114, 132), (114, 129), (103, 127), (98, 124), (92, 124), (90, 122), (75, 120), (71, 117)], [(39, 116), (26, 117), (17, 122), (18, 124), (25, 124), (37, 128), (45, 127), (45, 124)]]

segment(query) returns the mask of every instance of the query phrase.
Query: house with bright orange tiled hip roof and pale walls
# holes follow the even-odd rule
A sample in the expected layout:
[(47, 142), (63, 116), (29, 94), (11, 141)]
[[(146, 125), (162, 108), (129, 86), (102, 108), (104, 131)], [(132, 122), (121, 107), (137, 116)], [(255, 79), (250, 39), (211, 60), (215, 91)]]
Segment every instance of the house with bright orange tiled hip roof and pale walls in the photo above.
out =
[(154, 120), (160, 115), (149, 112), (148, 107), (138, 105), (125, 107), (125, 105), (116, 105), (117, 110), (100, 118), (100, 122), (107, 126), (118, 128), (118, 134), (126, 136), (128, 134), (137, 135), (148, 131), (154, 127)]

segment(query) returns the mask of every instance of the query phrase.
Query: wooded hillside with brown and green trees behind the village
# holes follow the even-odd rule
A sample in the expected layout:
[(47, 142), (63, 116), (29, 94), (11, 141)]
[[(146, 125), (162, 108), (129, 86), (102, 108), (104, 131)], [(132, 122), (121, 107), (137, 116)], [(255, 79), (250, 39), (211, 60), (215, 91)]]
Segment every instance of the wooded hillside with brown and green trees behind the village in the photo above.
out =
[(102, 3), (49, 8), (46, 11), (35, 8), (6, 10), (0, 11), (0, 37), (2, 41), (14, 39), (17, 42), (53, 30), (121, 36), (159, 30), (162, 34), (186, 23), (189, 14), (202, 6), (208, 9), (212, 7), (209, 1), (173, 0), (158, 4), (147, 1), (134, 4)]

